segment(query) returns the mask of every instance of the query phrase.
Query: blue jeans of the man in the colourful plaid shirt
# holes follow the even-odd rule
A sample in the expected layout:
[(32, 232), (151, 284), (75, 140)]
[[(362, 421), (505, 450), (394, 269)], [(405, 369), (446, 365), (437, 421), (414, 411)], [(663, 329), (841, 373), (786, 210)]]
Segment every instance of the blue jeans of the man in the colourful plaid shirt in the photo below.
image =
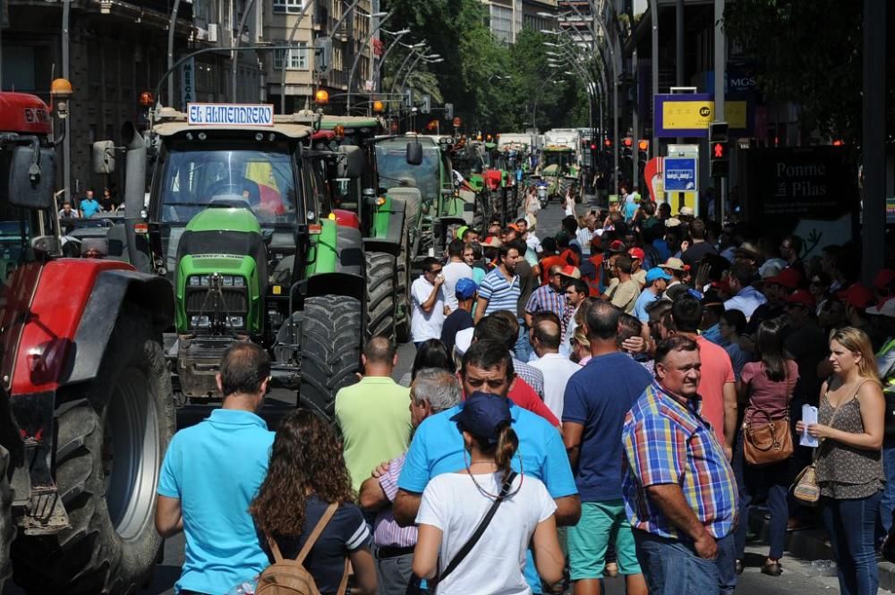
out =
[[(720, 568), (730, 566), (733, 574), (733, 535), (718, 540), (718, 558), (706, 560), (696, 555), (692, 545), (669, 540), (646, 531), (634, 530), (637, 559), (644, 570), (650, 595), (732, 593), (720, 586)], [(736, 577), (736, 574), (734, 574)], [(735, 579), (736, 580), (736, 579)], [(735, 585), (734, 585), (735, 586)]]

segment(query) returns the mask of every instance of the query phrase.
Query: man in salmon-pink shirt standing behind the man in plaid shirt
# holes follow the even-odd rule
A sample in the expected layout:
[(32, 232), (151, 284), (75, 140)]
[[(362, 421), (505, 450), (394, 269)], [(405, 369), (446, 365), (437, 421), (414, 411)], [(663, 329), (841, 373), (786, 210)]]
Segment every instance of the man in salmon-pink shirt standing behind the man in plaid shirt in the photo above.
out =
[(737, 387), (730, 356), (720, 345), (699, 336), (697, 328), (703, 319), (703, 304), (690, 293), (684, 293), (671, 306), (675, 333), (694, 339), (699, 345), (702, 377), (699, 395), (703, 397), (702, 416), (712, 424), (715, 435), (728, 460), (733, 456), (737, 433)]

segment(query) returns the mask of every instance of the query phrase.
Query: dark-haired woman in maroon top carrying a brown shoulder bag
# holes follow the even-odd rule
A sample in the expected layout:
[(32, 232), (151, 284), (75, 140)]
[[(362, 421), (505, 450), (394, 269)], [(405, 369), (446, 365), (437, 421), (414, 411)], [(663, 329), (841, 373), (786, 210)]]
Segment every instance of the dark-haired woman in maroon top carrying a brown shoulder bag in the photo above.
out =
[[(737, 573), (742, 572), (742, 559), (746, 549), (746, 529), (749, 523), (749, 507), (752, 499), (764, 485), (768, 494), (768, 509), (771, 512), (771, 549), (762, 566), (762, 573), (780, 576), (783, 570), (780, 558), (783, 557), (786, 525), (788, 521), (787, 492), (789, 489), (789, 458), (792, 455), (792, 440), (788, 424), (789, 401), (798, 380), (796, 361), (786, 356), (779, 319), (765, 320), (755, 334), (755, 346), (761, 359), (750, 361), (743, 366), (737, 382), (737, 395), (741, 404), (746, 404), (743, 428), (737, 440), (737, 463), (743, 465), (743, 481), (740, 483), (739, 518), (744, 521), (737, 525), (735, 535), (737, 547)], [(781, 423), (782, 421), (785, 421)], [(775, 423), (776, 422), (776, 423)], [(748, 461), (746, 449), (754, 437), (764, 437), (763, 432), (772, 432), (767, 436), (780, 439), (784, 447), (780, 450), (761, 451), (763, 444), (755, 452), (763, 454), (769, 461), (755, 466)], [(783, 436), (782, 434), (785, 434)], [(788, 442), (785, 439), (788, 438)], [(757, 444), (757, 443), (756, 443)], [(787, 448), (788, 446), (788, 452)], [(773, 454), (771, 454), (771, 452)], [(766, 453), (766, 454), (765, 454)], [(773, 459), (773, 461), (770, 461)]]

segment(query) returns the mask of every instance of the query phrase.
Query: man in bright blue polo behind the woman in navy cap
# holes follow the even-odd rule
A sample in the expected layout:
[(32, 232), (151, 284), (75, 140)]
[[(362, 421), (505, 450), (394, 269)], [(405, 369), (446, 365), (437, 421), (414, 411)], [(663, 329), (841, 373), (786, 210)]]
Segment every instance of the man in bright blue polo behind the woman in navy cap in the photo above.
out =
[[(483, 392), (507, 396), (513, 380), (513, 364), (507, 349), (491, 341), (476, 341), (464, 354), (460, 374), (465, 395)], [(411, 525), (420, 507), (426, 484), (441, 473), (465, 469), (467, 455), (463, 436), (450, 418), (460, 407), (432, 415), (423, 421), (413, 434), (404, 469), (398, 478), (398, 492), (394, 505), (395, 520), (402, 526)], [(566, 448), (556, 428), (540, 416), (515, 404), (510, 406), (513, 429), (519, 438), (518, 456), (513, 468), (544, 482), (550, 496), (556, 500), (557, 523), (573, 525), (581, 514), (581, 502), (575, 479), (569, 467)], [(533, 592), (541, 592), (541, 581), (534, 569), (531, 552), (525, 567), (525, 578)]]

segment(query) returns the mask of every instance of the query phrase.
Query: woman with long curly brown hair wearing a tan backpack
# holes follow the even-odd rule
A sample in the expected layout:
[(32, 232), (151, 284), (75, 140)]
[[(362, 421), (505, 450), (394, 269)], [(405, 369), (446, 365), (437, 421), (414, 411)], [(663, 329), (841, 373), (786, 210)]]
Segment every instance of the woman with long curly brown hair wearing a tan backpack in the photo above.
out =
[[(318, 416), (299, 409), (280, 422), (268, 475), (249, 512), (272, 563), (260, 575), (258, 593), (343, 595), (348, 559), (354, 569), (354, 592), (376, 593), (370, 529), (354, 504), (336, 434)], [(304, 571), (311, 584), (299, 576)], [(269, 578), (272, 574), (277, 574), (276, 585)], [(284, 590), (286, 576), (297, 586)]]

